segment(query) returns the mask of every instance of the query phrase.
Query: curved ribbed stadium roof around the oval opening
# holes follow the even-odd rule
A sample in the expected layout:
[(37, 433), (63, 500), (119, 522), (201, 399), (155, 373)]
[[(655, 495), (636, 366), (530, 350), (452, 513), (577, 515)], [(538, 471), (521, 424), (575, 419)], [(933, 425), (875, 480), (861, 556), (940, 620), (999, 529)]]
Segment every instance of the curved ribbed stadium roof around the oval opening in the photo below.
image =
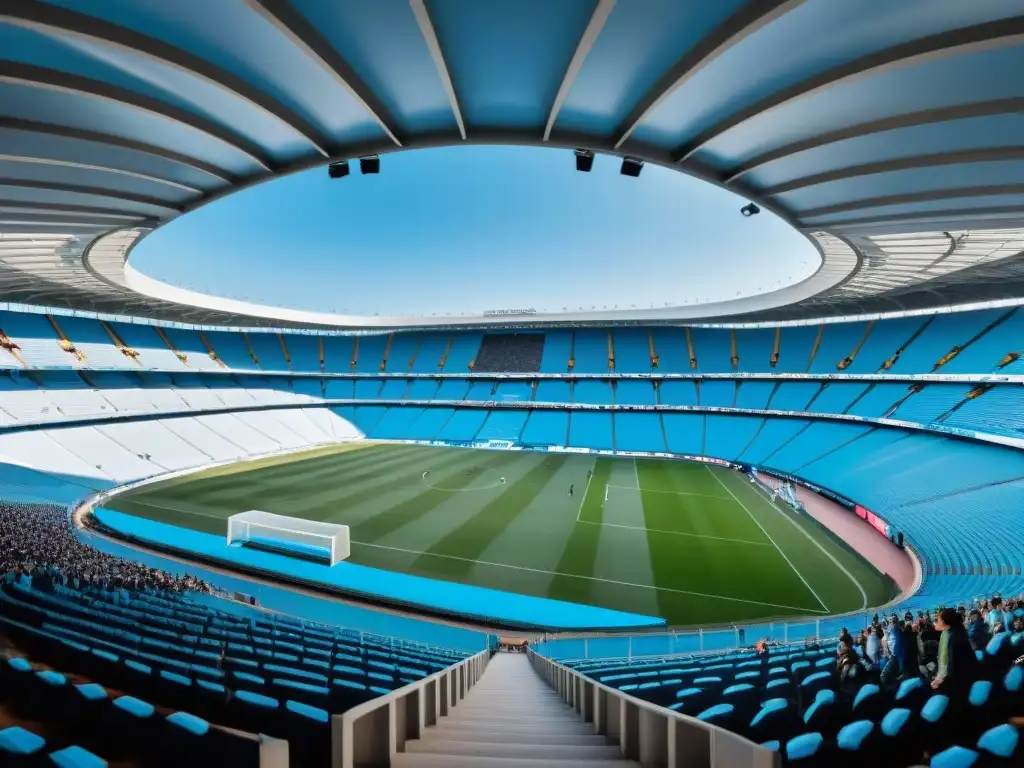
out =
[(677, 168), (823, 255), (803, 284), (675, 318), (1020, 298), (1020, 72), (1019, 0), (3, 0), (0, 301), (331, 325), (155, 298), (125, 262), (241, 187), (460, 143)]

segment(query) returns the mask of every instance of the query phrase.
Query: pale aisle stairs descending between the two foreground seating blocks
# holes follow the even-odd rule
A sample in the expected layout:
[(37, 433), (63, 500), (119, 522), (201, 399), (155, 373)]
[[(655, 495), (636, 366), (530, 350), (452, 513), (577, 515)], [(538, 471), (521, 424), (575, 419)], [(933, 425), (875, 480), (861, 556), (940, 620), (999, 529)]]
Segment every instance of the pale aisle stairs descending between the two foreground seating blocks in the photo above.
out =
[(396, 768), (639, 768), (594, 733), (534, 672), (525, 653), (498, 653), (449, 717), (406, 742)]

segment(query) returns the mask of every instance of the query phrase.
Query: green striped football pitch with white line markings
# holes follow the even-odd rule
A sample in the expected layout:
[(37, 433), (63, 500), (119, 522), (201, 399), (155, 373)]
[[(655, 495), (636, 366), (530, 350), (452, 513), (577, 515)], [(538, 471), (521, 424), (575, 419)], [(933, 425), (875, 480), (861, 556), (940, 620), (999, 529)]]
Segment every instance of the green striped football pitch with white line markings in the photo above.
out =
[(349, 562), (673, 626), (822, 616), (896, 593), (743, 475), (697, 463), (352, 443), (156, 482), (108, 506), (221, 535), (250, 509), (343, 523)]

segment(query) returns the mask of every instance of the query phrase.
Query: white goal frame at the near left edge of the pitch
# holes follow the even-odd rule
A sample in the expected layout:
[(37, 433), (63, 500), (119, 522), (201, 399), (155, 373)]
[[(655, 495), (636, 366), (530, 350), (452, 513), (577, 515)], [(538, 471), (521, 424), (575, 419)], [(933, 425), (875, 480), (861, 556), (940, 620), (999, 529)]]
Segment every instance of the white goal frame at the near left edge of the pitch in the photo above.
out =
[(267, 549), (335, 565), (348, 558), (348, 526), (250, 510), (227, 518), (227, 546)]

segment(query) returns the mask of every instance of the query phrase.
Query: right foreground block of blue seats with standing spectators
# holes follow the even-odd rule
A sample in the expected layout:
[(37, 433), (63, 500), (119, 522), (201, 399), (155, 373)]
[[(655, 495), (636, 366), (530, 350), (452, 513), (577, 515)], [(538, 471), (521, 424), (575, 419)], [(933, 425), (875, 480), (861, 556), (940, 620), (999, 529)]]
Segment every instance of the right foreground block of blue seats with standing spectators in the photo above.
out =
[(564, 664), (762, 743), (784, 764), (903, 766), (929, 757), (931, 765), (1019, 764), (1019, 726), (1007, 722), (1024, 705), (1024, 608), (1016, 600), (916, 618), (893, 613), (854, 629), (839, 633), (838, 644)]

